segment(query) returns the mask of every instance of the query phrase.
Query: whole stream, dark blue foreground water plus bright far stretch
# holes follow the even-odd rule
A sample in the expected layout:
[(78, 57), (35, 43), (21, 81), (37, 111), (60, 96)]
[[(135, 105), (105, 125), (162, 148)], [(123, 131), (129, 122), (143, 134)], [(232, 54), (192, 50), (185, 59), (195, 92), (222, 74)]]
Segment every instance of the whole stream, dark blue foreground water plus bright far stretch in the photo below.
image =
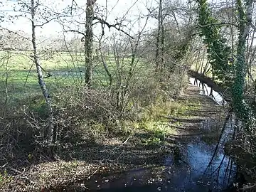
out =
[[(223, 97), (208, 85), (194, 78), (190, 78), (190, 82), (201, 88), (201, 95), (225, 105)], [(100, 178), (90, 191), (228, 191), (236, 181), (236, 166), (225, 155), (223, 147), (232, 137), (232, 126), (229, 119), (225, 131), (221, 132), (223, 123), (216, 119), (203, 120), (199, 127), (203, 134), (180, 139), (177, 149), (164, 159), (161, 166)]]

